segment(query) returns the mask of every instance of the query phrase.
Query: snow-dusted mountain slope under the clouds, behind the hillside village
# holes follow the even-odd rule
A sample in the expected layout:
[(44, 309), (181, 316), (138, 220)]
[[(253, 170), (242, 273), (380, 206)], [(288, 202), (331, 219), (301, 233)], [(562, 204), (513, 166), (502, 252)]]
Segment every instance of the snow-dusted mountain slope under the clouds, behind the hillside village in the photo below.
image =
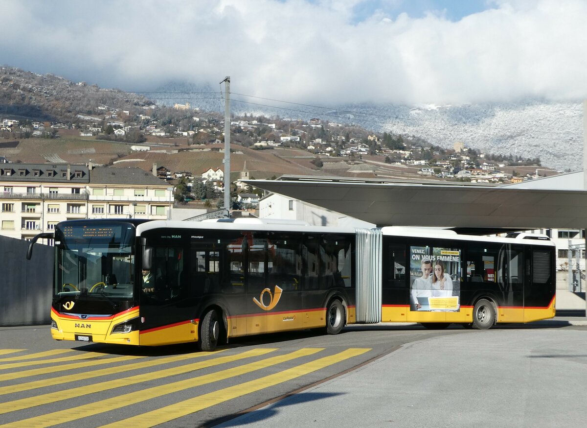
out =
[[(157, 90), (158, 103), (189, 102), (207, 111), (224, 112), (221, 91), (210, 86), (169, 83)], [(210, 92), (210, 93), (204, 93)], [(454, 142), (481, 152), (537, 158), (542, 165), (559, 170), (582, 169), (583, 109), (581, 101), (551, 102), (528, 99), (510, 103), (476, 105), (400, 106), (349, 104), (330, 108), (300, 108), (271, 102), (274, 107), (242, 103), (232, 96), (231, 111), (266, 116), (313, 117), (333, 122), (356, 123), (366, 129), (417, 136), (444, 148)], [(245, 101), (254, 101), (245, 99)], [(258, 102), (258, 101), (257, 101)], [(269, 102), (262, 102), (269, 104)], [(328, 101), (319, 103), (328, 105)]]

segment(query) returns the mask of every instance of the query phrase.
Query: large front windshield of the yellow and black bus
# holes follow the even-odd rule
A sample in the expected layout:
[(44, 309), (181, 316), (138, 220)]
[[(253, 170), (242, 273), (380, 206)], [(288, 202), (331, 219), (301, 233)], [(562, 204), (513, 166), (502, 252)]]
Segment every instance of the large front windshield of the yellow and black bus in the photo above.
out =
[(134, 226), (130, 223), (66, 223), (55, 231), (54, 295), (131, 299)]

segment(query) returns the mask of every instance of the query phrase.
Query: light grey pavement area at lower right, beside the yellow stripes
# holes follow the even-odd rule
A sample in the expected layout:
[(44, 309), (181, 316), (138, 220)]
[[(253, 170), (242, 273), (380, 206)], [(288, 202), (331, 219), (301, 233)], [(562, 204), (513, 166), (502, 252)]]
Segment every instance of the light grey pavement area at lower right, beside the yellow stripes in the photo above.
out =
[(534, 325), (408, 343), (218, 426), (584, 426), (587, 321)]

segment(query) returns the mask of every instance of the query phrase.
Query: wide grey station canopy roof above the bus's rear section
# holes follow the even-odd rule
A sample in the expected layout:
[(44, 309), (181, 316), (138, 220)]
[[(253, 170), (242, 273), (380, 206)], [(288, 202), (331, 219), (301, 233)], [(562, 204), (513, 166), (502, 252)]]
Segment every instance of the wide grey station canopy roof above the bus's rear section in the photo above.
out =
[(288, 175), (243, 181), (377, 226), (435, 226), (479, 234), (587, 227), (587, 191), (576, 188)]

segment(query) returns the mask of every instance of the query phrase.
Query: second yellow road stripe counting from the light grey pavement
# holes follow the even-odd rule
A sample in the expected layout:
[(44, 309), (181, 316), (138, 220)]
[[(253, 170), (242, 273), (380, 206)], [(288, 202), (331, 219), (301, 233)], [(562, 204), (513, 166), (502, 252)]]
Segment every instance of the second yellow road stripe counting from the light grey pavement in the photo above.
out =
[(254, 372), (255, 370), (264, 369), (266, 367), (293, 360), (295, 358), (312, 355), (321, 350), (323, 350), (323, 348), (300, 349), (286, 355), (269, 357), (258, 362), (233, 367), (227, 370), (221, 370), (217, 373), (204, 374), (203, 376), (197, 376), (191, 379), (180, 380), (178, 382), (161, 386), (154, 386), (139, 392), (123, 394), (117, 397), (112, 397), (110, 399), (84, 404), (83, 406), (70, 407), (69, 409), (60, 410), (59, 412), (48, 413), (38, 417), (31, 417), (29, 419), (11, 422), (6, 425), (0, 425), (0, 427), (48, 427), (60, 423), (66, 423), (72, 420), (82, 419), (82, 417), (93, 416), (94, 414), (120, 409), (121, 407), (130, 406), (131, 404), (142, 403), (145, 400), (160, 397), (165, 394), (171, 394), (195, 386), (218, 382), (223, 379), (228, 379), (229, 377)]

